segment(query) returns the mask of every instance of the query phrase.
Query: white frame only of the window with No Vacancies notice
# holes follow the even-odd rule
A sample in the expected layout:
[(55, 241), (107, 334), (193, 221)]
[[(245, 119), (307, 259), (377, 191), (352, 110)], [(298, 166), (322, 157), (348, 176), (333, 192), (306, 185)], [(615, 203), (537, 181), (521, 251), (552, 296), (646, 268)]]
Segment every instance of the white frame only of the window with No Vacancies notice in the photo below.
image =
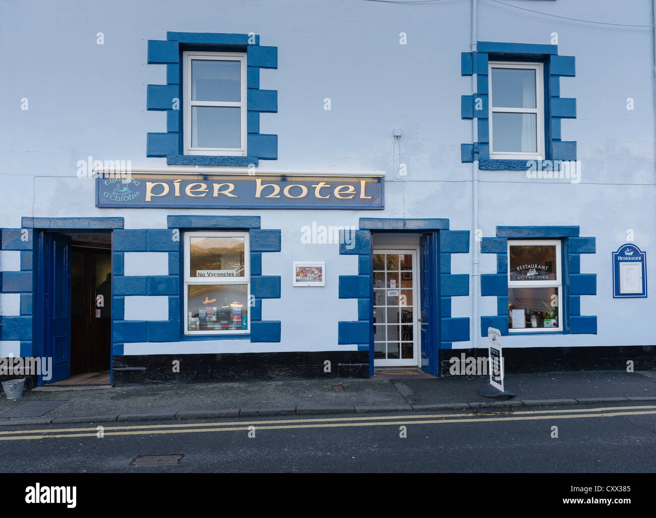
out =
[[(190, 276), (190, 250), (192, 237), (243, 237), (244, 238), (244, 275), (243, 277), (191, 277)], [(251, 332), (251, 252), (248, 232), (211, 232), (211, 231), (194, 231), (184, 233), (184, 334), (250, 334)], [(188, 313), (188, 290), (190, 285), (230, 285), (245, 284), (247, 285), (247, 329), (226, 329), (226, 330), (189, 330), (189, 313)]]

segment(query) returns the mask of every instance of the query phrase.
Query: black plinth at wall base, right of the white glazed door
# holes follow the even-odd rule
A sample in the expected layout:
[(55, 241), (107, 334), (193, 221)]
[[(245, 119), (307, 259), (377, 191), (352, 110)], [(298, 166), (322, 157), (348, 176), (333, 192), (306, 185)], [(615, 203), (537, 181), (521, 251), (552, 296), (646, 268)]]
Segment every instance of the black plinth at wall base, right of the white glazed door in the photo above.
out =
[[(440, 349), (440, 376), (451, 373), (450, 360), (456, 357), (487, 358), (487, 348)], [(626, 370), (627, 361), (633, 370), (656, 369), (656, 346), (578, 346), (504, 348), (504, 372), (558, 372), (559, 370)]]

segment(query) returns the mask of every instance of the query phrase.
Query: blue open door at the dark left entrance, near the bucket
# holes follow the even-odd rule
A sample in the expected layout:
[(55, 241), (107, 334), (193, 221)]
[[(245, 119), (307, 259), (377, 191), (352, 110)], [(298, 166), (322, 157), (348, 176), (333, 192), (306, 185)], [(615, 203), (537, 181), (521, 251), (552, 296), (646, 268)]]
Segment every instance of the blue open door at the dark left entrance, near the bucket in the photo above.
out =
[[(43, 352), (56, 382), (71, 377), (71, 238), (43, 236)], [(41, 379), (39, 379), (41, 381)]]

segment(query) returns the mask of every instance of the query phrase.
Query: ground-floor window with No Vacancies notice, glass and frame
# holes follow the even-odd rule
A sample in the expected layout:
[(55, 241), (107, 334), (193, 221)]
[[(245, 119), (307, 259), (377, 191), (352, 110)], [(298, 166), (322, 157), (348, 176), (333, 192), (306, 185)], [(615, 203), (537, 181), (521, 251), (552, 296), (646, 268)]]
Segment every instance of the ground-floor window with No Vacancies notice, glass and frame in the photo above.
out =
[(184, 334), (250, 332), (249, 234), (184, 235)]

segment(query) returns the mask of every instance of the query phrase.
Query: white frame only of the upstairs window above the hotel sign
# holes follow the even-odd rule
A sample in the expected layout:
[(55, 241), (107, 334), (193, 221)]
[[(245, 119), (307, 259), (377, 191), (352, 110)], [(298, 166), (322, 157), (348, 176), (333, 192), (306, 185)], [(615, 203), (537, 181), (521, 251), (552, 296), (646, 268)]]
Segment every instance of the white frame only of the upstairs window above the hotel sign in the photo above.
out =
[[(184, 154), (185, 155), (224, 155), (246, 156), (247, 140), (247, 63), (245, 52), (184, 52), (182, 54), (183, 71), (183, 97), (184, 97)], [(236, 101), (192, 101), (192, 60), (209, 61), (238, 61), (241, 78), (241, 94), (239, 102)], [(241, 132), (239, 148), (192, 148), (192, 106), (218, 106), (232, 107), (241, 110)]]

